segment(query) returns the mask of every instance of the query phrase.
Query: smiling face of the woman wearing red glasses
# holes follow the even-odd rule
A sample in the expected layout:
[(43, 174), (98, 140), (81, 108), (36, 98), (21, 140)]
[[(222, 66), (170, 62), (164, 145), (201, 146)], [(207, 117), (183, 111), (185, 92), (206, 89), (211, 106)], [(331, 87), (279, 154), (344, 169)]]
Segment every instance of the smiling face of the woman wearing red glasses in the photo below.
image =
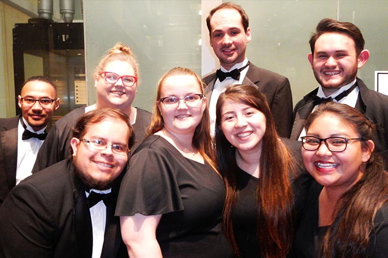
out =
[[(134, 76), (134, 70), (131, 64), (125, 61), (115, 60), (107, 64), (103, 72), (113, 72), (119, 76)], [(94, 86), (97, 89), (96, 106), (118, 108), (124, 113), (128, 113), (133, 99), (137, 93), (137, 82), (132, 87), (123, 85), (119, 79), (115, 84), (107, 83), (104, 74), (97, 75)]]

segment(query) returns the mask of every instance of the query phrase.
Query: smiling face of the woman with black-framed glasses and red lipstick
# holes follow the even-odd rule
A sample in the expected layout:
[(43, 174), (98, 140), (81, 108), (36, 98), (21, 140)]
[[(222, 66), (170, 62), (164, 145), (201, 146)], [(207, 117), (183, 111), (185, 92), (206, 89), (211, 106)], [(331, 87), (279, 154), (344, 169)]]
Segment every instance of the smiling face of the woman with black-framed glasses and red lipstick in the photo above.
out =
[[(308, 128), (307, 136), (319, 138), (359, 138), (354, 127), (332, 113), (318, 116)], [(369, 144), (369, 141), (366, 142)], [(373, 150), (373, 149), (372, 149)], [(315, 180), (332, 189), (347, 190), (362, 176), (360, 167), (370, 158), (370, 151), (362, 148), (358, 140), (350, 140), (343, 152), (331, 152), (324, 143), (315, 151), (302, 148), (302, 157), (307, 171)]]

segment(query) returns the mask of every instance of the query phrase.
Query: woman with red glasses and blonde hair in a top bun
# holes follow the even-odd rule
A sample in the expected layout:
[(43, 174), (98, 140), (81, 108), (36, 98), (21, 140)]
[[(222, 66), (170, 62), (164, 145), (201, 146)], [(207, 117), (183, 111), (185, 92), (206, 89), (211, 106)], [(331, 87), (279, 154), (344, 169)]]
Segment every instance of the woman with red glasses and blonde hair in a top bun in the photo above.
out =
[(53, 165), (70, 155), (71, 127), (82, 114), (103, 107), (117, 108), (129, 116), (135, 132), (132, 151), (144, 138), (151, 113), (132, 106), (139, 86), (139, 66), (132, 50), (116, 43), (108, 50), (93, 73), (96, 103), (77, 108), (59, 119), (47, 135), (36, 158), (33, 172)]

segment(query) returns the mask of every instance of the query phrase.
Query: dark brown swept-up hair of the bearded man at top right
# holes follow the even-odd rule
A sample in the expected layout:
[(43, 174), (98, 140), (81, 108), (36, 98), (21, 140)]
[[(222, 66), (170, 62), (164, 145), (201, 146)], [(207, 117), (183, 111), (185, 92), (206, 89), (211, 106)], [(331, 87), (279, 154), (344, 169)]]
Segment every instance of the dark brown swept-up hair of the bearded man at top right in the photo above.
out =
[(321, 20), (316, 28), (316, 32), (310, 38), (310, 49), (314, 55), (315, 42), (324, 33), (343, 33), (351, 37), (356, 45), (357, 55), (364, 49), (365, 40), (360, 29), (350, 22), (340, 22), (334, 19), (325, 18)]

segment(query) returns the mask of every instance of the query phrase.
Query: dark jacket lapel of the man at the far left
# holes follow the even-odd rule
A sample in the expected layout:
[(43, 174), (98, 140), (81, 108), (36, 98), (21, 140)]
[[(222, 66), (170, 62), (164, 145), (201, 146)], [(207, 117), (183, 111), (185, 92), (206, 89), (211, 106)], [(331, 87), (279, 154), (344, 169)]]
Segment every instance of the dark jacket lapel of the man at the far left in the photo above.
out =
[(16, 184), (16, 166), (18, 160), (18, 128), (1, 133), (4, 169), (7, 174), (8, 187), (11, 189)]

